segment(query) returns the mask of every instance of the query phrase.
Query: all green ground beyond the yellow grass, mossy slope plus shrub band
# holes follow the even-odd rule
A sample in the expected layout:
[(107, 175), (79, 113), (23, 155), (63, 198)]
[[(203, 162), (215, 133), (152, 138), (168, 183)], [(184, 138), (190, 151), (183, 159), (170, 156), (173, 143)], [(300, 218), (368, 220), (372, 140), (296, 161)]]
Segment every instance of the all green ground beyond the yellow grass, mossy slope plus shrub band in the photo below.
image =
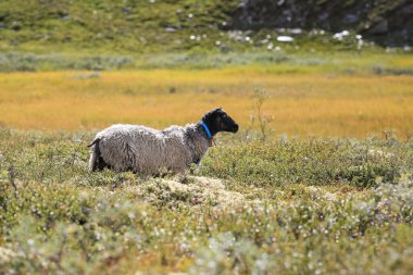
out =
[[(326, 2), (334, 5), (334, 1), (313, 4)], [(380, 1), (363, 18), (373, 24), (381, 18), (377, 14), (388, 13), (386, 7), (401, 4)], [(0, 3), (0, 71), (215, 68), (279, 63), (328, 65), (328, 71), (336, 65), (341, 68), (342, 60), (373, 57), (368, 72), (412, 74), (406, 66), (393, 72), (391, 65), (381, 64), (385, 49), (356, 38), (351, 28), (340, 39), (321, 29), (229, 29), (226, 26), (238, 4), (238, 0), (4, 0)], [(277, 40), (286, 35), (293, 41)], [(408, 53), (401, 48), (388, 49), (387, 55), (409, 59), (406, 49)], [(358, 66), (343, 70), (360, 71)]]

